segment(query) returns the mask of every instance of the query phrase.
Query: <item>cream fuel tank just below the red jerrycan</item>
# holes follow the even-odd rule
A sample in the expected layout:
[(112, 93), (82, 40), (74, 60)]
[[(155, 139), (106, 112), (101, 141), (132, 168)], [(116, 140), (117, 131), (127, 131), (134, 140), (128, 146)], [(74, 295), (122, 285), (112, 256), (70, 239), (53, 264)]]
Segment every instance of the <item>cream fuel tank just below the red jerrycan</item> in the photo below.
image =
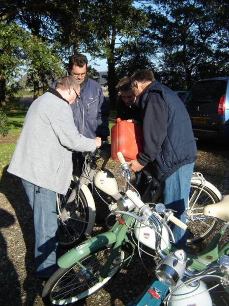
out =
[(93, 182), (97, 188), (110, 196), (119, 192), (115, 176), (107, 169), (98, 170), (94, 176)]

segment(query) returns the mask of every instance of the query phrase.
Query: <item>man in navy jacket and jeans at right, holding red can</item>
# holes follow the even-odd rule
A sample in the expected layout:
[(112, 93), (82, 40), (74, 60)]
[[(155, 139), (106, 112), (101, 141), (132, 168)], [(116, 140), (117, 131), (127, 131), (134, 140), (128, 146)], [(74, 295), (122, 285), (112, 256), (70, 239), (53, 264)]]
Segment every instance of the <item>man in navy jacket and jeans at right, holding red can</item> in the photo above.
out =
[[(151, 172), (163, 187), (167, 208), (185, 222), (191, 176), (196, 159), (196, 143), (191, 121), (180, 98), (158, 83), (150, 70), (134, 73), (130, 79), (139, 107), (145, 139), (144, 151), (129, 162), (130, 169), (140, 171), (150, 164)], [(186, 233), (174, 228), (178, 247), (186, 248)]]

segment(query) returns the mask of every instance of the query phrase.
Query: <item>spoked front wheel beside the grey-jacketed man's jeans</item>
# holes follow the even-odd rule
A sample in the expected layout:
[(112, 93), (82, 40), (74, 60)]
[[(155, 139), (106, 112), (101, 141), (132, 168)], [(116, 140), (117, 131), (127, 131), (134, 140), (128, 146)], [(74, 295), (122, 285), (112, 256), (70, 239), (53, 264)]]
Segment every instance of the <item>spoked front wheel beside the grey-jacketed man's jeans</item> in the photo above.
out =
[[(68, 189), (66, 195), (57, 194), (58, 233), (59, 241), (63, 247), (71, 248), (84, 238), (85, 228), (89, 222), (89, 206), (82, 190), (79, 194), (73, 188)], [(70, 203), (67, 203), (70, 199)], [(66, 205), (67, 204), (67, 205)]]

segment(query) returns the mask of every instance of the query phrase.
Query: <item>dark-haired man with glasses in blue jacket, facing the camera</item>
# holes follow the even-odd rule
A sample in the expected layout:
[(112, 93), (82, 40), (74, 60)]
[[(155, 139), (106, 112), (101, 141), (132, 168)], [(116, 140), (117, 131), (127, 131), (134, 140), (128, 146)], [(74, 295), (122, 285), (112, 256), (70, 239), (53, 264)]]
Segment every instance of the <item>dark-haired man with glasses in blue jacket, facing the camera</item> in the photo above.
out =
[[(71, 105), (74, 122), (81, 135), (92, 139), (99, 136), (102, 140), (107, 140), (109, 106), (100, 84), (87, 77), (87, 66), (88, 59), (85, 55), (74, 54), (69, 58), (68, 74), (80, 85), (80, 95), (76, 98), (75, 104)], [(52, 84), (53, 88), (54, 86), (55, 82)], [(77, 159), (81, 172), (84, 163), (81, 152), (73, 153), (73, 171)]]

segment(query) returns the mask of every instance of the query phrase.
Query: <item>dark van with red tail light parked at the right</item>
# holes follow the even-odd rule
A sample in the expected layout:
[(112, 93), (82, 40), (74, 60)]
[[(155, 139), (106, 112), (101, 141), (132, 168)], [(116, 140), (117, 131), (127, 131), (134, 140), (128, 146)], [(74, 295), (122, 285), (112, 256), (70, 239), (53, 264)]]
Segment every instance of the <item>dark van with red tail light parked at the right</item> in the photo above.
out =
[(197, 138), (229, 141), (229, 77), (195, 82), (185, 100)]

